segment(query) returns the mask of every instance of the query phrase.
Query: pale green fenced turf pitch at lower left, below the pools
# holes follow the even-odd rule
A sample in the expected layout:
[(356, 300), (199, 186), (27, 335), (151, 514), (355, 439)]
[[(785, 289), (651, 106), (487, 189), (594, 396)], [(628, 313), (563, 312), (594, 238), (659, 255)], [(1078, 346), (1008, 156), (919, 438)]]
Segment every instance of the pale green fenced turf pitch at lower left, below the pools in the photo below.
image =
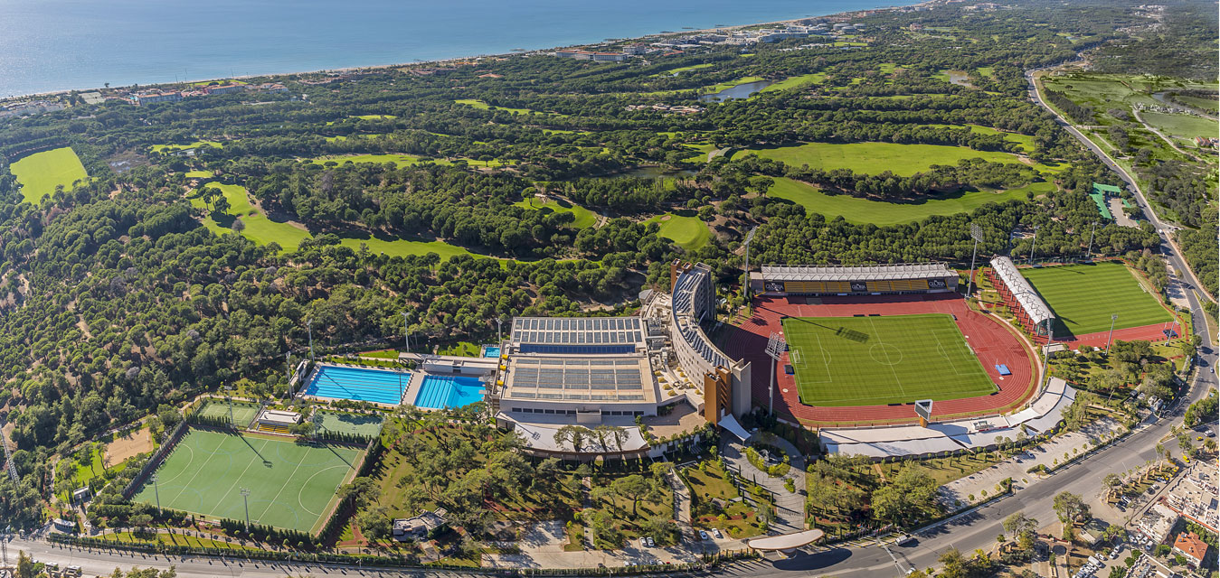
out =
[(145, 483), (135, 501), (216, 518), (244, 519), (242, 488), (250, 490), (250, 522), (310, 532), (344, 482), (360, 450), (298, 445), (257, 435), (193, 429)]

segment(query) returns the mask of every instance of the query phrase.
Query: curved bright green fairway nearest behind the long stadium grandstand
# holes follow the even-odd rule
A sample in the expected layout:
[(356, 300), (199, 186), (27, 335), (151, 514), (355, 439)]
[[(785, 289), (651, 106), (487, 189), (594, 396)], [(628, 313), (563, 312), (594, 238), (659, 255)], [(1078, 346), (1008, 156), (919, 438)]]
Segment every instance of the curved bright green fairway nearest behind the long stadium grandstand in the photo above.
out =
[(775, 179), (775, 185), (767, 195), (788, 199), (803, 205), (808, 211), (819, 212), (827, 219), (843, 216), (853, 223), (874, 223), (877, 226), (911, 223), (932, 215), (955, 215), (974, 211), (988, 202), (1002, 202), (1009, 199), (1025, 199), (1027, 190), (1035, 194), (1054, 188), (1052, 183), (1033, 183), (1021, 189), (1003, 193), (971, 190), (947, 196), (930, 196), (919, 202), (886, 202), (860, 199), (850, 195), (827, 195), (819, 188), (789, 178)]

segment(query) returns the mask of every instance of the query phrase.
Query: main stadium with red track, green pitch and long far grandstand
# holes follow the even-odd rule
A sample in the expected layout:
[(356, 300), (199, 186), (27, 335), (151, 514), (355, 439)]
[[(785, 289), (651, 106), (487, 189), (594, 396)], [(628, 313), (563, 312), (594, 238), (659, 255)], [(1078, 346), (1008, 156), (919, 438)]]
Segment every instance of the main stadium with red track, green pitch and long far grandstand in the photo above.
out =
[(1037, 357), (1014, 327), (971, 310), (943, 263), (762, 266), (750, 276), (753, 316), (727, 354), (755, 371), (755, 404), (816, 428), (906, 424), (935, 400), (937, 422), (1002, 416), (1037, 389)]

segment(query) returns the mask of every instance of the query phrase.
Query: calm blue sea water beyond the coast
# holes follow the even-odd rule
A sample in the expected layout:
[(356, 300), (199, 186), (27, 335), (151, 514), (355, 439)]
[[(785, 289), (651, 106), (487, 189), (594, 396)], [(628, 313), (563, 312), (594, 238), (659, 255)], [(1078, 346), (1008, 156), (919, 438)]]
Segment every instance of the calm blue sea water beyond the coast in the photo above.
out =
[(904, 0), (0, 0), (0, 96), (545, 49)]

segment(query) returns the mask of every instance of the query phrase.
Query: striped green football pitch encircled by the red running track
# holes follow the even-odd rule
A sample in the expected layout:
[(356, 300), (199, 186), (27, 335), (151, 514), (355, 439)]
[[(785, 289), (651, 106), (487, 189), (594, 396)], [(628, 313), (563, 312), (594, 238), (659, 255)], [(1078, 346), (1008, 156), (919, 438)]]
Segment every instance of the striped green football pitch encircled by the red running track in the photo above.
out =
[(946, 313), (789, 317), (783, 334), (803, 404), (909, 404), (996, 391)]

